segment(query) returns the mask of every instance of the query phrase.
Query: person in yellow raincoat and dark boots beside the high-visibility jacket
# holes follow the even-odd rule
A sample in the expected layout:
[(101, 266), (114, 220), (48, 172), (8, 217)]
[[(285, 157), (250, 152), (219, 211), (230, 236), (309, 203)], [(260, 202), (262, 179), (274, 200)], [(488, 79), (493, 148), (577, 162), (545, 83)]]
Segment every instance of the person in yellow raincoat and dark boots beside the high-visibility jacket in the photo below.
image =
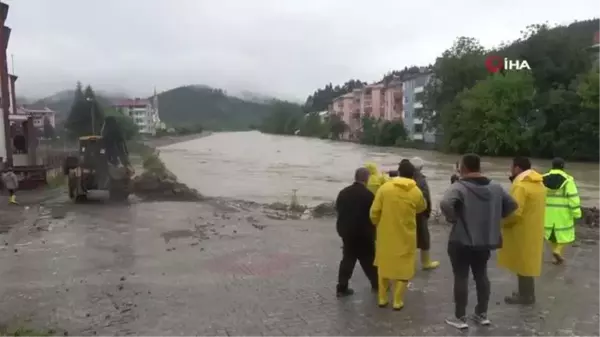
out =
[(507, 304), (535, 303), (534, 277), (542, 272), (546, 187), (525, 157), (513, 159), (510, 195), (518, 208), (502, 223), (502, 248), (498, 265), (515, 273), (518, 291), (504, 298)]

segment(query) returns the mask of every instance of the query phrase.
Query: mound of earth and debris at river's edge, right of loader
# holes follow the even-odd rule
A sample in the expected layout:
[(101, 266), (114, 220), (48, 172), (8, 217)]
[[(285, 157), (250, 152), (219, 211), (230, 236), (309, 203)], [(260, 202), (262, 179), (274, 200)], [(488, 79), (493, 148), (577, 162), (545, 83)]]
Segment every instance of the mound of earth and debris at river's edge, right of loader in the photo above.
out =
[(158, 151), (147, 153), (143, 158), (144, 171), (133, 179), (133, 192), (146, 200), (199, 201), (198, 191), (177, 181), (158, 156)]

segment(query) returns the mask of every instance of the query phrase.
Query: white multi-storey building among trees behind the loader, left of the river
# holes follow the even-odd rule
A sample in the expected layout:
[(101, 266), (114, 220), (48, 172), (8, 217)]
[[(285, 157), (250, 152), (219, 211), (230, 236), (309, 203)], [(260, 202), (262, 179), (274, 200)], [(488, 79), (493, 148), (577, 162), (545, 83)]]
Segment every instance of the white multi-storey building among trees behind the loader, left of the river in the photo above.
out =
[(114, 105), (120, 113), (131, 117), (141, 134), (155, 135), (156, 130), (163, 127), (158, 115), (158, 95), (149, 99), (128, 99)]

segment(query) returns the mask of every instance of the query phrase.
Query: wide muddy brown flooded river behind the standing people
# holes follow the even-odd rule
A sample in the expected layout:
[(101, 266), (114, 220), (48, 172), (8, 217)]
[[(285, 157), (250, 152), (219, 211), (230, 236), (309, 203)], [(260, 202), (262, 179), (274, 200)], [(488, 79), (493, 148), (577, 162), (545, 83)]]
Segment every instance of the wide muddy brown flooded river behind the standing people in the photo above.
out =
[[(354, 170), (374, 161), (383, 170), (397, 168), (402, 158), (425, 160), (436, 206), (450, 183), (457, 155), (434, 151), (381, 148), (314, 138), (252, 132), (215, 133), (161, 148), (161, 157), (179, 179), (202, 194), (259, 203), (291, 201), (314, 206), (335, 199), (353, 179)], [(482, 169), (508, 187), (509, 158), (484, 158)], [(534, 160), (540, 171), (549, 161)], [(578, 182), (583, 204), (600, 206), (600, 164), (568, 163)]]

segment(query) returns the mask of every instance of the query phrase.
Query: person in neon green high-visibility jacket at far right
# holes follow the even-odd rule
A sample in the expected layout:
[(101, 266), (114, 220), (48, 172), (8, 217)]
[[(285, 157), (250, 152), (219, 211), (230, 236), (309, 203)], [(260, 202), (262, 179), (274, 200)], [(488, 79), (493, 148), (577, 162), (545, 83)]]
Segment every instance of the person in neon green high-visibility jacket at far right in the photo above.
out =
[(562, 264), (563, 248), (575, 241), (575, 219), (581, 218), (581, 204), (573, 177), (565, 171), (562, 158), (552, 160), (552, 169), (544, 174), (546, 186), (545, 236), (552, 246), (554, 264)]

